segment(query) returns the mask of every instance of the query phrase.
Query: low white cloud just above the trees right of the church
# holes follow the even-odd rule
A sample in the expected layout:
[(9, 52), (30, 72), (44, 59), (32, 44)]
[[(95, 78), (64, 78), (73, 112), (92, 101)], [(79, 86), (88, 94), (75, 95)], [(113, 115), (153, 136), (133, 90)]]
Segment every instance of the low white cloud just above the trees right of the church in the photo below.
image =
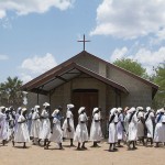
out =
[[(125, 50), (125, 52), (124, 52)], [(160, 47), (157, 51), (151, 51), (145, 47), (139, 48), (134, 54), (129, 54), (129, 48), (116, 48), (110, 57), (110, 62), (114, 62), (119, 56), (138, 61), (142, 64), (146, 72), (151, 75), (153, 67), (156, 68), (158, 64), (165, 61), (165, 46)]]

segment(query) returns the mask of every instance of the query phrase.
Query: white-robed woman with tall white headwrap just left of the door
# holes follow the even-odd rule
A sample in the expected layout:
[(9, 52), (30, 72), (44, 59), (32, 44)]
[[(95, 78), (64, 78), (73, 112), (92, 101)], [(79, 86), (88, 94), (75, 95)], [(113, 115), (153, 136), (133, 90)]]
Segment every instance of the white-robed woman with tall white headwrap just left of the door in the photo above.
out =
[(70, 146), (75, 146), (73, 143), (74, 134), (75, 134), (75, 125), (74, 125), (74, 116), (72, 112), (72, 109), (74, 108), (74, 105), (67, 105), (67, 112), (66, 112), (66, 119), (63, 123), (63, 135), (66, 139), (70, 139)]

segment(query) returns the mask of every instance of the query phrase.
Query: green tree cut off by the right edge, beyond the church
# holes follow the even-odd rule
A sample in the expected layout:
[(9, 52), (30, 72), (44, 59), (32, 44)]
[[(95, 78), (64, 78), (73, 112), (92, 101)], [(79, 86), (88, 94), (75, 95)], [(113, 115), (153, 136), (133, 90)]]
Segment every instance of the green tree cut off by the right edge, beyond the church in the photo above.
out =
[(156, 108), (165, 107), (165, 61), (155, 69), (153, 81), (160, 86), (153, 106)]

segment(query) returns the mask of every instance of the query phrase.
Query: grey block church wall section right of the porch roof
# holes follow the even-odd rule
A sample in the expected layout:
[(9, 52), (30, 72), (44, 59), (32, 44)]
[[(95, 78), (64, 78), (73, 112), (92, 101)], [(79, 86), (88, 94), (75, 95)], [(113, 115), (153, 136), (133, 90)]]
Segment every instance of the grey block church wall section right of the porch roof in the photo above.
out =
[(121, 106), (142, 106), (147, 107), (152, 103), (152, 88), (144, 82), (124, 74), (116, 68), (108, 69), (108, 78), (123, 85), (129, 95), (121, 95)]

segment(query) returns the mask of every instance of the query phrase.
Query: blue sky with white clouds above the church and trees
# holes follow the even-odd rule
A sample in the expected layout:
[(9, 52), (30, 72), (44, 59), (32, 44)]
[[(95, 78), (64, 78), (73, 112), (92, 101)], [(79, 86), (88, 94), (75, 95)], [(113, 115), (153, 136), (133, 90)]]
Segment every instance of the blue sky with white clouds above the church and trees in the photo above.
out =
[(164, 0), (0, 0), (0, 82), (24, 82), (82, 51), (129, 57), (152, 74), (165, 61)]

